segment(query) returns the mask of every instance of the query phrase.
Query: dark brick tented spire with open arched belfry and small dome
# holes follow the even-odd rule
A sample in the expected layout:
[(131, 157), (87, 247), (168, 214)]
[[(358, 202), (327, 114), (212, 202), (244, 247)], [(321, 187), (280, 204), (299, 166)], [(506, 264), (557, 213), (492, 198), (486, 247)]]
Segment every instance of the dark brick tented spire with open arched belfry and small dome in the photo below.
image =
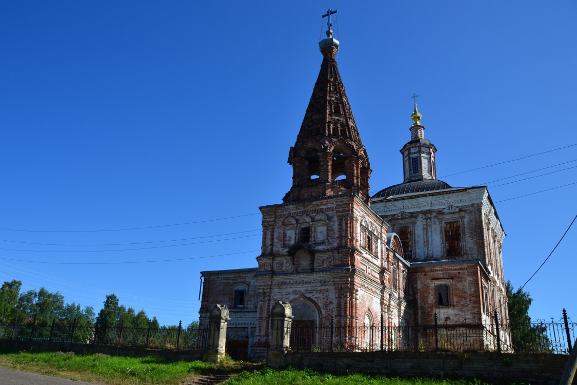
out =
[(323, 62), (297, 141), (288, 154), (293, 187), (283, 201), (357, 193), (370, 203), (369, 158), (340, 79), (335, 60), (339, 42), (331, 29), (319, 46)]

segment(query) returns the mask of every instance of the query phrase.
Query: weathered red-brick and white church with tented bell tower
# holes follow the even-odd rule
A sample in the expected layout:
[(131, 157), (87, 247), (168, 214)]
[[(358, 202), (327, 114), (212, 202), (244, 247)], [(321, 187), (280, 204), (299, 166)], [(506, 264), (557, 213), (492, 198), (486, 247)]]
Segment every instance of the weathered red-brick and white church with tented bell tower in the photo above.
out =
[[(369, 155), (335, 60), (339, 42), (328, 25), (319, 42), (319, 77), (288, 151), (290, 190), (282, 203), (260, 207), (257, 267), (201, 272), (200, 327), (208, 325), (213, 305), (226, 305), (227, 350), (263, 360), (272, 306), (284, 301), (297, 330), (332, 327), (346, 334), (380, 327), (387, 330), (386, 349), (406, 349), (407, 326), (492, 328), (494, 317), (507, 343), (505, 233), (487, 188), (437, 180), (437, 149), (425, 139), (415, 100), (410, 140), (400, 149), (403, 182), (370, 195)], [(309, 345), (315, 338), (308, 336)], [(493, 345), (481, 337), (473, 349)]]

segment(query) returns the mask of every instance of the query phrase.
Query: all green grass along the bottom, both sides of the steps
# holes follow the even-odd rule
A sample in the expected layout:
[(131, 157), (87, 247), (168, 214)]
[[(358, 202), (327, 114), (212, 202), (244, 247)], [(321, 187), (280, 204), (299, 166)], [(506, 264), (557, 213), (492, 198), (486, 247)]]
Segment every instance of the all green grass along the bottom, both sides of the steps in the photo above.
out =
[[(238, 368), (236, 364), (230, 360), (230, 357), (215, 365), (203, 361), (167, 361), (158, 357), (117, 357), (106, 354), (74, 354), (71, 352), (17, 352), (0, 347), (0, 366), (2, 367), (109, 385), (178, 385), (190, 382), (190, 379), (200, 374), (234, 371), (235, 368)], [(249, 365), (248, 363), (245, 364)], [(288, 368), (275, 371), (266, 367), (260, 371), (244, 371), (225, 384), (486, 385), (479, 380), (401, 379), (362, 373), (335, 375), (310, 369)]]

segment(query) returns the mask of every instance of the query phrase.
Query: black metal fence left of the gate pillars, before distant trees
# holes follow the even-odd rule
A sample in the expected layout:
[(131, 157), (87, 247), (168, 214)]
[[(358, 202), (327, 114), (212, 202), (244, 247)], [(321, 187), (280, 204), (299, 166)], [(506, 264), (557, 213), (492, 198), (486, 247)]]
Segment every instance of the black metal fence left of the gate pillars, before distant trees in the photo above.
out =
[(208, 346), (208, 328), (135, 328), (77, 326), (76, 321), (53, 320), (40, 325), (30, 320), (24, 324), (0, 324), (0, 341), (44, 341), (147, 347), (151, 349), (204, 350)]

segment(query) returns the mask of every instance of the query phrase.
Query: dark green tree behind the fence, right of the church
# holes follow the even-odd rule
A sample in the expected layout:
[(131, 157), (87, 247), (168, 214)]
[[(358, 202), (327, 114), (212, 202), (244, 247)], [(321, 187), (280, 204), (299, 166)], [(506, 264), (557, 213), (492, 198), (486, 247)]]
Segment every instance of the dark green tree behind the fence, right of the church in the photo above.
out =
[(521, 288), (515, 291), (511, 281), (505, 286), (509, 310), (509, 328), (511, 340), (516, 353), (534, 353), (549, 350), (549, 339), (546, 328), (531, 324), (529, 306), (533, 298), (528, 291)]

